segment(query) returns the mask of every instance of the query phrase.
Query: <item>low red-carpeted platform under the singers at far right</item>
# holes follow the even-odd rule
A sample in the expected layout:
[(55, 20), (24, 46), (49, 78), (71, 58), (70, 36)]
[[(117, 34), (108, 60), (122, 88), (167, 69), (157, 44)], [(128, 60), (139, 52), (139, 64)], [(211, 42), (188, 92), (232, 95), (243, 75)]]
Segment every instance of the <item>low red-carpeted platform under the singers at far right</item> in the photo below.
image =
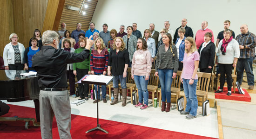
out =
[(233, 93), (233, 88), (232, 88), (231, 91), (232, 91), (232, 94), (227, 95), (228, 88), (224, 87), (222, 93), (215, 93), (215, 98), (216, 99), (224, 99), (224, 100), (233, 100), (233, 101), (247, 101), (247, 102), (251, 101), (251, 97), (250, 97), (249, 93), (246, 91), (246, 89), (243, 89), (244, 95), (239, 94), (237, 88), (236, 88), (236, 93), (235, 94)]

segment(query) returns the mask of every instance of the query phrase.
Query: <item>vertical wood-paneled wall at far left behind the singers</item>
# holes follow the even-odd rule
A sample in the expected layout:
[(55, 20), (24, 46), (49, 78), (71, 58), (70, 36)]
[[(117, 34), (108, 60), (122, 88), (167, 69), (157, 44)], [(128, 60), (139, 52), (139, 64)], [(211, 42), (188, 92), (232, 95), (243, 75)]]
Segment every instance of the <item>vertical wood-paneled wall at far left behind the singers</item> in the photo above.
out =
[(16, 33), (18, 42), (28, 47), (35, 29), (42, 29), (48, 0), (0, 0), (0, 56), (9, 36)]

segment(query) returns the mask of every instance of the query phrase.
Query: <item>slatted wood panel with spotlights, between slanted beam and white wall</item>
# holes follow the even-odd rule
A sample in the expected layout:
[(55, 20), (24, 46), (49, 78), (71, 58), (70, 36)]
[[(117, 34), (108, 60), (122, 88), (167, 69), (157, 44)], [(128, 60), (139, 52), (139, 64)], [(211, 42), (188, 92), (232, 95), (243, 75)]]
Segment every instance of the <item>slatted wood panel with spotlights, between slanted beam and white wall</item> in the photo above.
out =
[[(85, 0), (84, 5), (87, 4), (88, 8), (85, 8), (84, 5), (82, 6), (83, 0), (66, 0), (64, 4), (64, 8), (61, 15), (61, 21), (59, 25), (59, 29), (61, 30), (61, 23), (66, 23), (67, 27), (66, 29), (72, 32), (76, 29), (76, 24), (81, 23), (82, 24), (82, 30), (85, 32), (88, 30), (89, 23), (91, 22), (93, 18), (93, 14), (96, 8), (96, 5), (98, 3), (98, 0)], [(73, 11), (67, 9), (67, 5), (78, 7), (79, 9), (82, 6), (82, 11), (85, 11), (86, 14), (82, 15), (79, 14), (79, 11)]]

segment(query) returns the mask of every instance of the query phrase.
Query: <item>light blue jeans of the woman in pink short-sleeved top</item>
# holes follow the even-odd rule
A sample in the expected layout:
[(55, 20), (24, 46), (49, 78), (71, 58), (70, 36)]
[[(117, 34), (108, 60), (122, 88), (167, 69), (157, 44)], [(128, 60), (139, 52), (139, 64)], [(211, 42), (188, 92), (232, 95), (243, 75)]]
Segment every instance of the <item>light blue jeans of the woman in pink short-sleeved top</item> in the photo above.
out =
[[(183, 78), (182, 78), (183, 79)], [(186, 112), (189, 112), (190, 115), (195, 116), (198, 107), (198, 101), (196, 97), (196, 84), (198, 80), (194, 80), (193, 84), (189, 84), (190, 79), (183, 79), (183, 88), (184, 93), (187, 98)]]

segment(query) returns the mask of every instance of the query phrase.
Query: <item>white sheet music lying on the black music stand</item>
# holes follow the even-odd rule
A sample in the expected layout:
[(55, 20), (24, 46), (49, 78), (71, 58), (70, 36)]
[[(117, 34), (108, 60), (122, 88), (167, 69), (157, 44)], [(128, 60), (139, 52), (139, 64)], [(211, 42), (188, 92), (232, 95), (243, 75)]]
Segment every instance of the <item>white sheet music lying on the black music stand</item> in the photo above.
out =
[(107, 85), (112, 81), (113, 76), (104, 76), (104, 75), (85, 75), (77, 83), (90, 83), (97, 85)]

